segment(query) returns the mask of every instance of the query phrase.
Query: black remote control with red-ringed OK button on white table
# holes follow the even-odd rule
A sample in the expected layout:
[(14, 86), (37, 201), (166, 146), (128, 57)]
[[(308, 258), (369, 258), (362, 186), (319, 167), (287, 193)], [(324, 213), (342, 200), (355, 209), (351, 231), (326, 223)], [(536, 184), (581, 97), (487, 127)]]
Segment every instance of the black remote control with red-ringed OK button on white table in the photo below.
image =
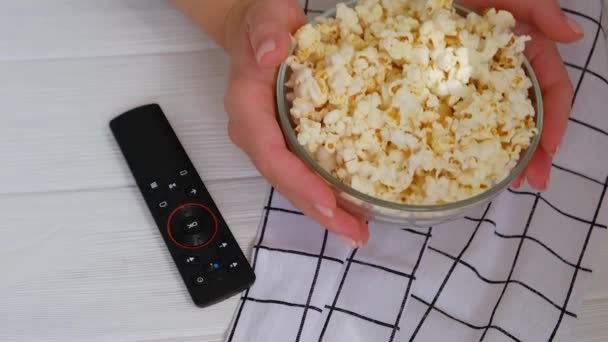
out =
[(110, 128), (194, 303), (250, 287), (255, 274), (161, 107), (129, 110)]

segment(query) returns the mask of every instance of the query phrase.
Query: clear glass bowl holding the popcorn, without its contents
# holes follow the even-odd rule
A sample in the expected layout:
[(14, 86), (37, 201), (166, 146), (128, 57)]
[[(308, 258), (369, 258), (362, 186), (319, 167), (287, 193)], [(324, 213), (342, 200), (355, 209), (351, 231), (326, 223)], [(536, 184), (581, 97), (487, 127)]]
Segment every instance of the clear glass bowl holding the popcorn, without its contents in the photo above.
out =
[[(356, 4), (356, 1), (347, 3), (349, 6), (353, 6), (354, 4)], [(456, 4), (454, 7), (461, 15), (466, 15), (471, 11)], [(335, 13), (336, 9), (332, 8), (323, 14), (320, 14), (320, 17), (334, 17)], [(315, 20), (312, 21), (312, 24), (315, 24)], [(292, 48), (292, 53), (293, 50), (295, 50), (295, 46)], [(492, 199), (510, 186), (510, 184), (523, 172), (527, 164), (532, 159), (532, 156), (538, 147), (540, 135), (543, 129), (543, 105), (540, 86), (534, 70), (527, 60), (524, 60), (523, 65), (526, 74), (533, 84), (533, 87), (530, 90), (530, 99), (536, 111), (535, 119), (538, 133), (533, 137), (530, 146), (526, 150), (522, 151), (519, 162), (505, 179), (495, 184), (485, 192), (465, 200), (439, 205), (406, 205), (386, 201), (351, 188), (323, 169), (315, 161), (314, 157), (298, 143), (294, 131), (294, 123), (292, 122), (291, 114), (289, 113), (290, 103), (285, 98), (285, 95), (289, 91), (289, 89), (285, 86), (285, 83), (291, 74), (291, 69), (285, 63), (283, 63), (279, 68), (276, 85), (277, 111), (281, 130), (283, 131), (283, 135), (285, 136), (289, 149), (296, 154), (313, 172), (319, 175), (327, 184), (330, 185), (336, 194), (340, 207), (366, 219), (375, 219), (415, 227), (428, 227), (436, 225), (466, 216), (471, 211), (478, 209), (478, 207), (489, 203)]]

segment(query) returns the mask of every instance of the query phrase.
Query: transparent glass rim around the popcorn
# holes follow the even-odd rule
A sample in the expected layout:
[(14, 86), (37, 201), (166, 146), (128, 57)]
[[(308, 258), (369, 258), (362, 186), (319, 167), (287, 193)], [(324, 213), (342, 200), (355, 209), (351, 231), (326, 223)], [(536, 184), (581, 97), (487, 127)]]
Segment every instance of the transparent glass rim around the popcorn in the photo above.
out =
[[(357, 3), (357, 0), (346, 2), (346, 4), (348, 6), (352, 6), (356, 3)], [(468, 9), (462, 5), (454, 4), (453, 6), (460, 12), (464, 12), (464, 13), (471, 12), (470, 9)], [(333, 7), (331, 9), (323, 12), (318, 17), (321, 17), (321, 18), (333, 17), (333, 16), (335, 16), (335, 13), (336, 13), (336, 8)], [(311, 24), (314, 25), (315, 22), (316, 22), (316, 20), (312, 20)], [(292, 47), (292, 49), (290, 51), (290, 55), (293, 54), (295, 48), (296, 48), (295, 46)], [(517, 165), (511, 170), (511, 172), (509, 173), (509, 176), (507, 176), (505, 179), (496, 183), (494, 186), (492, 186), (491, 188), (489, 188), (488, 190), (486, 190), (482, 193), (479, 193), (475, 196), (466, 198), (464, 200), (456, 201), (456, 202), (450, 202), (450, 203), (445, 203), (445, 204), (436, 204), (436, 205), (411, 205), (411, 204), (401, 204), (401, 203), (397, 203), (397, 202), (382, 200), (380, 198), (373, 197), (373, 196), (367, 195), (365, 193), (362, 193), (358, 190), (355, 190), (354, 188), (342, 183), (339, 179), (337, 179), (332, 174), (327, 172), (324, 168), (322, 168), (314, 160), (314, 158), (311, 156), (311, 154), (302, 145), (300, 145), (300, 143), (298, 142), (298, 139), (296, 137), (296, 134), (294, 132), (291, 118), (290, 118), (290, 113), (287, 109), (287, 108), (289, 108), (289, 106), (287, 105), (286, 99), (285, 99), (285, 82), (286, 82), (285, 76), (286, 76), (288, 68), (289, 68), (289, 66), (286, 63), (281, 64), (279, 71), (278, 71), (277, 82), (276, 82), (276, 100), (277, 100), (276, 104), (278, 107), (277, 111), (278, 111), (279, 121), (280, 121), (280, 125), (281, 125), (281, 129), (283, 131), (283, 134), (286, 136), (286, 139), (288, 140), (288, 143), (289, 143), (290, 148), (292, 149), (292, 152), (295, 152), (300, 159), (303, 159), (303, 161), (309, 167), (311, 167), (317, 174), (319, 174), (321, 177), (323, 177), (323, 179), (325, 181), (329, 182), (332, 186), (347, 193), (348, 195), (353, 196), (354, 198), (356, 198), (360, 201), (366, 202), (368, 204), (372, 204), (374, 206), (379, 206), (379, 207), (384, 207), (387, 209), (393, 209), (393, 210), (399, 210), (399, 211), (406, 211), (406, 212), (438, 212), (438, 211), (458, 210), (458, 209), (469, 207), (471, 205), (475, 205), (477, 203), (485, 202), (486, 200), (489, 200), (489, 199), (495, 197), (496, 195), (498, 195), (500, 192), (502, 192), (505, 188), (507, 188), (515, 180), (515, 178), (519, 174), (521, 174), (521, 172), (523, 172), (523, 170), (526, 168), (526, 166), (532, 159), (532, 156), (536, 152), (536, 149), (538, 148), (540, 136), (541, 136), (541, 133), (543, 130), (543, 114), (544, 113), (543, 113), (542, 93), (540, 90), (540, 85), (538, 83), (536, 74), (534, 73), (534, 70), (533, 70), (532, 66), (530, 65), (529, 61), (527, 60), (527, 58), (524, 59), (523, 66), (524, 66), (524, 69), (525, 69), (528, 77), (532, 81), (535, 102), (536, 102), (535, 103), (535, 111), (536, 111), (535, 118), (536, 118), (536, 128), (537, 128), (538, 132), (532, 138), (530, 146), (525, 150), (524, 155), (520, 158)]]

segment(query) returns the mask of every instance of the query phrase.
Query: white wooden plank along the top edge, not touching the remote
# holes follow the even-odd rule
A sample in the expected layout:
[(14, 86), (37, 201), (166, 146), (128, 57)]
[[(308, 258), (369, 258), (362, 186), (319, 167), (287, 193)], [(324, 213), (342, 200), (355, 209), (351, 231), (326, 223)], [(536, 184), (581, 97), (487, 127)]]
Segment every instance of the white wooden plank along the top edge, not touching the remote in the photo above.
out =
[(200, 51), (215, 46), (164, 0), (7, 0), (1, 7), (5, 19), (0, 20), (0, 61)]

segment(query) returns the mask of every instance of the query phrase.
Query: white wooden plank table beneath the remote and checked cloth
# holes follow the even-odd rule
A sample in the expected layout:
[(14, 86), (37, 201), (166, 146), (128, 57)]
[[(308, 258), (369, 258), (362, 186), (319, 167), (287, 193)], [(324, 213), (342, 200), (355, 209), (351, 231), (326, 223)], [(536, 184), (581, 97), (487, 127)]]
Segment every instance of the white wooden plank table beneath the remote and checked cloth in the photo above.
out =
[[(108, 121), (159, 103), (249, 252), (267, 185), (226, 135), (226, 71), (161, 0), (0, 0), (0, 340), (223, 339), (237, 298), (191, 304)], [(594, 277), (576, 341), (608, 340)]]

